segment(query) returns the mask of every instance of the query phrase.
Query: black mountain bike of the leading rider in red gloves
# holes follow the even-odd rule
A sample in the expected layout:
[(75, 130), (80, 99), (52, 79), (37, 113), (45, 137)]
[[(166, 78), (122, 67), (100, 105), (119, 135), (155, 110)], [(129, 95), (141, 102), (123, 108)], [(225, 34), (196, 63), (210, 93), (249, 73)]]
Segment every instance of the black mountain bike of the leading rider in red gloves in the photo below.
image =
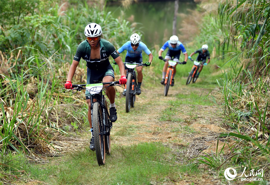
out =
[[(106, 98), (102, 95), (104, 84), (113, 86), (119, 84), (119, 81), (72, 85), (72, 88), (74, 88), (72, 90), (88, 90), (90, 92), (91, 121), (94, 131), (96, 157), (99, 165), (105, 164), (105, 153), (107, 155), (110, 155), (111, 153), (110, 131), (112, 128), (112, 122), (109, 118), (110, 115), (108, 112)], [(109, 86), (106, 86), (104, 90)], [(96, 101), (94, 102), (94, 100)]]

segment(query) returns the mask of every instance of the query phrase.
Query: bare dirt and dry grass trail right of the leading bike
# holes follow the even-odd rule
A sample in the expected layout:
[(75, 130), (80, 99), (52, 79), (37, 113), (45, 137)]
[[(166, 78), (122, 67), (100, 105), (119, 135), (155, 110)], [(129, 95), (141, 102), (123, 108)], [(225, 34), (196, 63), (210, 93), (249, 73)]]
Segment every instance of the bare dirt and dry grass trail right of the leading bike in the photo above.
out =
[[(186, 147), (186, 155), (190, 157), (198, 155), (200, 150), (211, 152), (215, 150), (215, 144), (219, 133), (224, 132), (221, 128), (222, 119), (217, 114), (217, 106), (203, 106), (192, 104), (181, 104), (175, 107), (176, 115), (180, 121), (162, 121), (161, 115), (170, 105), (168, 101), (177, 101), (177, 94), (188, 95), (194, 93), (192, 87), (174, 86), (170, 87), (168, 96), (163, 96), (163, 87), (158, 85), (150, 90), (143, 90), (137, 96), (135, 107), (131, 112), (118, 114), (119, 118), (112, 130), (113, 143), (128, 145), (139, 142), (162, 142), (172, 144), (176, 147)], [(208, 89), (196, 89), (195, 93), (207, 95)], [(124, 108), (121, 106), (118, 109)], [(128, 115), (128, 121), (125, 120)], [(183, 120), (183, 121), (181, 121)], [(125, 122), (124, 125), (122, 122)], [(124, 129), (123, 129), (124, 128)], [(121, 135), (121, 131), (129, 134)]]

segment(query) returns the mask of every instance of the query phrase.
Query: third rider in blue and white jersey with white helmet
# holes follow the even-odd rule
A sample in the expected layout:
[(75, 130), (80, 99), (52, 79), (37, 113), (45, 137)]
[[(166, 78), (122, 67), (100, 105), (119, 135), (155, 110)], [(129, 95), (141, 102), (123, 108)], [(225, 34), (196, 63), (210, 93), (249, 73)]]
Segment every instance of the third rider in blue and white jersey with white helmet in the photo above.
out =
[[(170, 40), (165, 42), (165, 44), (161, 47), (161, 49), (159, 50), (159, 59), (163, 60), (163, 57), (161, 56), (161, 54), (167, 47), (169, 48), (169, 50), (165, 56), (165, 59), (171, 60), (173, 57), (173, 61), (179, 62), (179, 57), (180, 57), (180, 54), (182, 51), (183, 54), (185, 55), (185, 60), (183, 61), (182, 64), (186, 64), (187, 57), (188, 57), (188, 55), (186, 53), (186, 49), (183, 46), (183, 44), (180, 41), (178, 41), (178, 37), (176, 35), (172, 35), (170, 37)], [(163, 70), (162, 70), (162, 80), (160, 81), (161, 84), (164, 84), (164, 82), (165, 82), (165, 76), (166, 76), (166, 71), (167, 71), (168, 65), (169, 65), (168, 61), (165, 62)], [(176, 65), (174, 66), (171, 86), (174, 85), (174, 77), (176, 74)]]

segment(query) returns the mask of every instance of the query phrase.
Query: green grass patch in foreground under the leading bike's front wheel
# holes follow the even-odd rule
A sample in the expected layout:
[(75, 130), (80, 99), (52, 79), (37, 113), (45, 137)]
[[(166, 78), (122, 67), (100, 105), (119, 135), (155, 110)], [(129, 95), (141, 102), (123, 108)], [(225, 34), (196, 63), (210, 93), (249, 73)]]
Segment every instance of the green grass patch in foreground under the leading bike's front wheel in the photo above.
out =
[(113, 145), (106, 166), (98, 166), (95, 152), (88, 148), (70, 153), (61, 160), (40, 166), (25, 158), (10, 161), (10, 166), (22, 166), (30, 179), (49, 184), (150, 184), (175, 180), (178, 174), (192, 174), (197, 168), (175, 165), (170, 149), (160, 143)]

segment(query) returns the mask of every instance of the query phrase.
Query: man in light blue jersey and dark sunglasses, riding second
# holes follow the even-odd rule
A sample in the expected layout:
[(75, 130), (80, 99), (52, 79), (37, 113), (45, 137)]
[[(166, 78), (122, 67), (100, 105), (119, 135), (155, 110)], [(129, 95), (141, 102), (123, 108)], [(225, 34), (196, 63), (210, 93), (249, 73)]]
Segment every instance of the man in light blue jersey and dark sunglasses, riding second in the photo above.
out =
[[(144, 51), (149, 56), (149, 61), (146, 62), (147, 66), (150, 66), (152, 60), (153, 60), (153, 54), (150, 52), (150, 50), (147, 48), (147, 46), (141, 42), (141, 37), (137, 33), (134, 33), (130, 36), (130, 41), (127, 41), (122, 47), (120, 47), (117, 52), (122, 53), (124, 50), (127, 50), (127, 55), (125, 62), (129, 63), (143, 63), (143, 56), (142, 51)], [(126, 66), (125, 66), (126, 68)], [(127, 68), (126, 68), (127, 69)], [(138, 89), (136, 90), (136, 94), (141, 94), (141, 84), (143, 81), (143, 72), (142, 72), (143, 66), (136, 67), (138, 76)], [(126, 95), (126, 85), (125, 89), (123, 91), (123, 95)]]

